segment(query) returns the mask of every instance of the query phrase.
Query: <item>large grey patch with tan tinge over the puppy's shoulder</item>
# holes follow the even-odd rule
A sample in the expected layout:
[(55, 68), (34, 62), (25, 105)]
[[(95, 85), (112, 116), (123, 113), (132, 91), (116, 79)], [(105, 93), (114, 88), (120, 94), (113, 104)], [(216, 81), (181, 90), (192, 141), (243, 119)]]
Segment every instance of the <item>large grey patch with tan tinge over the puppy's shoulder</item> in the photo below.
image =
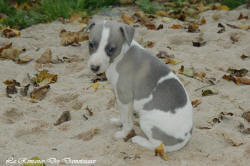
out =
[(148, 97), (158, 80), (170, 73), (166, 64), (138, 46), (130, 47), (116, 69), (117, 95), (123, 104)]

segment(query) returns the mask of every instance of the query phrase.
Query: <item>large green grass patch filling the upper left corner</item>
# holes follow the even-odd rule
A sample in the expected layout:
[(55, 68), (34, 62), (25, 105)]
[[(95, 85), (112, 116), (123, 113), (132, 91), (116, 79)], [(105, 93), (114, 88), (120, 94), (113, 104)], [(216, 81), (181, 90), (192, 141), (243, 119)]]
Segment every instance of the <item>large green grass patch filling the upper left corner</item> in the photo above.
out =
[(92, 11), (117, 5), (118, 0), (16, 0), (17, 4), (27, 2), (32, 5), (30, 9), (19, 9), (13, 4), (8, 4), (8, 0), (0, 0), (0, 13), (6, 17), (0, 19), (0, 25), (17, 27), (23, 29), (38, 23), (46, 23), (56, 20), (59, 17), (69, 18), (72, 13), (85, 11), (89, 14)]

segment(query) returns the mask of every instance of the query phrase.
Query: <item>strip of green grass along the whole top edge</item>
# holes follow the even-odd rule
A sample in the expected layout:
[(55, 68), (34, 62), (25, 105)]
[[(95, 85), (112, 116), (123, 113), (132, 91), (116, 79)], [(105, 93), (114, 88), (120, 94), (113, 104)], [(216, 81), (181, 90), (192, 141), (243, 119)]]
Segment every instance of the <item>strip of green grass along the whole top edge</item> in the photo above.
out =
[[(169, 0), (182, 8), (183, 2), (191, 0)], [(200, 0), (205, 4), (220, 2), (234, 9), (249, 0)], [(167, 10), (164, 5), (151, 0), (137, 0), (135, 2), (147, 13), (157, 10)], [(28, 7), (23, 7), (28, 4)], [(0, 0), (0, 27), (1, 25), (23, 29), (38, 23), (47, 23), (59, 17), (69, 18), (72, 13), (85, 11), (89, 15), (94, 11), (113, 5), (118, 5), (119, 0)]]

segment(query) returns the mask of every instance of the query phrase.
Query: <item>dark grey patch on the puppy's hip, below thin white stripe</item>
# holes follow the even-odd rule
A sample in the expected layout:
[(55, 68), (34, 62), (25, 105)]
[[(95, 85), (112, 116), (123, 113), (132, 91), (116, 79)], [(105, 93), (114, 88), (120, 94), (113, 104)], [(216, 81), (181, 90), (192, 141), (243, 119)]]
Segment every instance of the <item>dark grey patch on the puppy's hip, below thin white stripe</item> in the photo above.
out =
[(146, 103), (143, 109), (159, 109), (175, 113), (177, 108), (181, 108), (187, 103), (185, 90), (175, 78), (167, 79), (158, 84), (152, 95), (152, 100)]

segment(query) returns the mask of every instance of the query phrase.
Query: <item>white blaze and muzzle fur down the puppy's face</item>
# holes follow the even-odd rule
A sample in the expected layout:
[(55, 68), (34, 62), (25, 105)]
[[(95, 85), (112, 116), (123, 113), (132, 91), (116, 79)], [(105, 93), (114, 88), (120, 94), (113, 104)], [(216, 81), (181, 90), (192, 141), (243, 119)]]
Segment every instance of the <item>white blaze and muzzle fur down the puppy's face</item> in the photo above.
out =
[(110, 35), (110, 28), (105, 27), (105, 21), (103, 24), (102, 36), (99, 43), (99, 46), (94, 54), (90, 56), (88, 61), (88, 66), (91, 65), (100, 66), (98, 73), (103, 73), (107, 70), (109, 66), (109, 57), (106, 55), (105, 47), (108, 43)]

